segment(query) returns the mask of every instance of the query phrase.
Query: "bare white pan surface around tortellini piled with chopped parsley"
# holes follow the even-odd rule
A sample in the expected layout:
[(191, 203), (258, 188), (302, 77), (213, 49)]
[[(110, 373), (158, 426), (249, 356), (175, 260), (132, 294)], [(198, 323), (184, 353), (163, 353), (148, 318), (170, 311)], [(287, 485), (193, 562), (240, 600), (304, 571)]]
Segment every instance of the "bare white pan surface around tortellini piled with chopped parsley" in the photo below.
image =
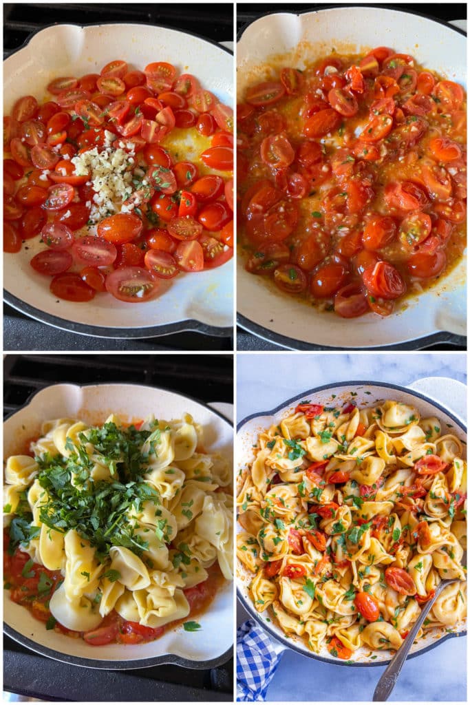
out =
[[(152, 413), (157, 418), (178, 419), (189, 412), (204, 428), (206, 450), (218, 451), (229, 462), (232, 460), (233, 429), (225, 419), (208, 407), (171, 391), (132, 384), (85, 387), (58, 384), (43, 389), (30, 404), (6, 420), (4, 455), (18, 453), (27, 439), (37, 437), (46, 419), (77, 417), (88, 423), (102, 423), (111, 412), (128, 421)], [(168, 656), (162, 662), (171, 663), (176, 656), (190, 662), (185, 666), (197, 668), (198, 662), (220, 657), (233, 644), (233, 587), (225, 583), (209, 610), (197, 617), (201, 630), (185, 632), (180, 626), (148, 644), (89, 646), (82, 639), (47, 631), (27, 609), (11, 601), (8, 591), (4, 591), (4, 620), (13, 630), (30, 639), (32, 648), (37, 646), (39, 653), (44, 653), (42, 647), (53, 649), (57, 652), (54, 658), (59, 660), (62, 654), (91, 659), (96, 668), (100, 668), (100, 661), (125, 661), (126, 668), (139, 668), (139, 662), (149, 658)]]

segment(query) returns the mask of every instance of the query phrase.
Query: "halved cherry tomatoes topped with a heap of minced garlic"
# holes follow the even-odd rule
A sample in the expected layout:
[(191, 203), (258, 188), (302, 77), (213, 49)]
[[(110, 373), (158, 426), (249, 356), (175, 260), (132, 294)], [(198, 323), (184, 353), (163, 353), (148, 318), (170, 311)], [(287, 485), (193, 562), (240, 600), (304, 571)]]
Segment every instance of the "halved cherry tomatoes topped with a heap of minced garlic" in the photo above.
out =
[(232, 132), (232, 109), (163, 61), (51, 81), (4, 118), (4, 252), (39, 240), (32, 268), (77, 302), (149, 300), (161, 279), (224, 264)]

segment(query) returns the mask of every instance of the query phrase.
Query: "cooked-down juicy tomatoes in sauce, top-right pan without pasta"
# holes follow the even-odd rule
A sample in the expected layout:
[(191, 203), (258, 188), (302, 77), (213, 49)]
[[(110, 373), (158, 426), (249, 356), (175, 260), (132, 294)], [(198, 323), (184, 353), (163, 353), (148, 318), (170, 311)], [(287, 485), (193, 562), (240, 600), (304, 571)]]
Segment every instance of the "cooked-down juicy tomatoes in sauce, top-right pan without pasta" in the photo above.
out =
[(237, 106), (245, 267), (345, 318), (447, 275), (466, 222), (466, 96), (378, 47), (285, 67)]

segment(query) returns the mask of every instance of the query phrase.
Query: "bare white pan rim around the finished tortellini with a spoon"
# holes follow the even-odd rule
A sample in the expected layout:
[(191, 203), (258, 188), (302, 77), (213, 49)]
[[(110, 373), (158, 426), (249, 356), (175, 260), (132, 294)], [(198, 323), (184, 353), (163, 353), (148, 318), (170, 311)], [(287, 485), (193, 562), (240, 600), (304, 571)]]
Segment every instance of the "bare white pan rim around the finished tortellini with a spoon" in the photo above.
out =
[[(356, 396), (352, 397), (351, 393), (355, 392)], [(338, 386), (329, 386), (328, 389), (323, 391), (318, 391), (314, 394), (304, 393), (299, 395), (295, 402), (283, 406), (280, 410), (275, 413), (260, 412), (254, 418), (249, 419), (237, 432), (237, 438), (235, 441), (235, 458), (237, 458), (237, 470), (243, 468), (247, 463), (253, 460), (253, 446), (256, 443), (257, 436), (260, 431), (268, 428), (271, 424), (279, 424), (280, 420), (289, 416), (295, 410), (299, 400), (309, 399), (312, 403), (318, 403), (325, 406), (342, 406), (344, 403), (350, 402), (354, 399), (354, 403), (359, 407), (370, 406), (376, 404), (379, 400), (394, 399), (405, 404), (411, 404), (416, 407), (421, 413), (422, 417), (426, 416), (437, 416), (441, 423), (449, 424), (448, 433), (455, 434), (459, 439), (466, 442), (466, 433), (464, 430), (455, 422), (455, 420), (448, 415), (445, 408), (436, 408), (431, 401), (422, 397), (421, 395), (416, 396), (413, 391), (407, 391), (406, 389), (395, 388), (393, 385), (390, 386), (379, 386), (376, 384), (342, 384)], [(462, 426), (463, 426), (462, 422)], [(241, 530), (241, 527), (237, 527)], [(239, 595), (242, 598), (243, 606), (252, 615), (252, 617), (261, 623), (261, 625), (268, 632), (271, 633), (273, 637), (279, 639), (286, 646), (299, 651), (305, 656), (311, 656), (316, 658), (317, 655), (308, 649), (304, 644), (301, 637), (295, 635), (289, 635), (286, 637), (284, 632), (278, 627), (273, 621), (266, 622), (266, 618), (269, 617), (268, 612), (257, 613), (254, 610), (252, 600), (248, 594), (249, 582), (252, 580), (252, 573), (250, 573), (245, 566), (237, 561), (237, 588)], [(465, 623), (459, 623), (453, 627), (452, 632), (459, 633), (464, 631)], [(411, 654), (417, 654), (420, 651), (426, 650), (432, 646), (435, 646), (439, 639), (446, 637), (447, 633), (445, 629), (442, 630), (430, 630), (426, 635), (420, 639), (417, 644), (412, 645)], [(328, 661), (336, 661), (328, 652), (328, 649), (323, 647), (320, 654), (320, 658), (326, 658)], [(371, 658), (373, 656), (373, 658)], [(379, 665), (390, 660), (390, 651), (374, 651), (371, 653), (370, 649), (366, 649), (361, 646), (360, 649), (354, 651), (352, 656), (354, 663), (359, 666), (365, 666), (368, 664)], [(341, 663), (338, 660), (338, 663)]]

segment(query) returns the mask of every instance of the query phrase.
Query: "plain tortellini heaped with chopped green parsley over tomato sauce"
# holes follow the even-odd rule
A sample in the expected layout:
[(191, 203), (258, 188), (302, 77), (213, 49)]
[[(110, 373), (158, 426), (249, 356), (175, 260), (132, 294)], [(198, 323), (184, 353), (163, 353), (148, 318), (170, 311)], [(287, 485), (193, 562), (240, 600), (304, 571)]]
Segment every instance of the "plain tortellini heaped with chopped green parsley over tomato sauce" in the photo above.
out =
[(189, 414), (55, 419), (30, 450), (6, 462), (4, 573), (48, 628), (149, 641), (232, 580), (230, 467)]

